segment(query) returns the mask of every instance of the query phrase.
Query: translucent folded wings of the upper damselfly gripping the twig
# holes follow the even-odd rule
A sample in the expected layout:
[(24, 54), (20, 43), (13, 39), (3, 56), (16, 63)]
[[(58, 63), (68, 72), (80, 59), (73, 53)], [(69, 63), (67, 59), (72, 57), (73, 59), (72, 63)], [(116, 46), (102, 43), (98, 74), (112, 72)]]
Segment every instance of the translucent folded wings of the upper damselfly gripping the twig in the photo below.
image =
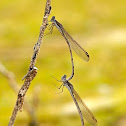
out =
[(85, 61), (89, 61), (89, 54), (62, 28), (64, 35), (68, 39), (71, 48), (77, 53), (77, 55)]

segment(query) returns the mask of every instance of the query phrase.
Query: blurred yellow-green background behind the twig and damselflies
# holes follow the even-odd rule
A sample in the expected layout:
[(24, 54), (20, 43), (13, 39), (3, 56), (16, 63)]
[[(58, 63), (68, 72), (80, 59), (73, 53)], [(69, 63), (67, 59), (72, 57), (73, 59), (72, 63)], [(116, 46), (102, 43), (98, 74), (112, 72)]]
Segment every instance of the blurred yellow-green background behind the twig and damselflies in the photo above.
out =
[[(39, 35), (46, 0), (0, 1), (0, 62), (13, 72), (19, 87)], [(84, 62), (74, 52), (75, 90), (98, 120), (98, 126), (126, 126), (126, 1), (52, 0), (49, 18), (56, 16), (68, 33), (89, 53)], [(70, 54), (54, 28), (43, 39), (37, 58), (38, 74), (26, 99), (33, 110), (19, 112), (15, 126), (81, 126), (66, 88), (60, 92), (51, 76), (71, 74)], [(0, 125), (6, 126), (17, 96), (0, 73)], [(85, 123), (89, 126), (88, 123)]]

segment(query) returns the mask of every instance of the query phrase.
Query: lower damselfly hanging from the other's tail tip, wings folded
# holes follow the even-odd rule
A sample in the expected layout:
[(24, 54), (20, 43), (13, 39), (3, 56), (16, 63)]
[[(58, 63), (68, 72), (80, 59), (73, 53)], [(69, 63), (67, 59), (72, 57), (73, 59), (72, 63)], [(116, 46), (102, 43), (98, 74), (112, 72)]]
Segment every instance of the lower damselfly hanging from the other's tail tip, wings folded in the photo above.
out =
[[(74, 90), (73, 85), (70, 82), (68, 82), (68, 79), (66, 79), (66, 75), (64, 75), (61, 78), (60, 82), (63, 82), (62, 85), (60, 86), (60, 88), (62, 86), (63, 87), (65, 86), (69, 90), (69, 92), (70, 92), (70, 94), (71, 94), (71, 96), (73, 98), (73, 101), (74, 101), (74, 103), (75, 103), (75, 105), (77, 107), (78, 113), (80, 115), (82, 126), (84, 126), (84, 119), (86, 119), (87, 122), (89, 124), (91, 124), (92, 126), (97, 126), (97, 120), (95, 119), (94, 115), (89, 110), (89, 108), (86, 106), (86, 104), (82, 101), (82, 99), (80, 98), (78, 93)], [(63, 87), (62, 87), (62, 91), (63, 91)]]

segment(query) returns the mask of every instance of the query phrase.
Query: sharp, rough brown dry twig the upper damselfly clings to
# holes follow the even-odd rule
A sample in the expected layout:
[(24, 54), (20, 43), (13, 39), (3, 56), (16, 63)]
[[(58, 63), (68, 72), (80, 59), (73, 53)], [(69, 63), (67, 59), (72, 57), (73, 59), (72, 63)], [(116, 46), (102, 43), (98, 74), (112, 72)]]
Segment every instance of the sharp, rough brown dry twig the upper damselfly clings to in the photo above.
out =
[(43, 22), (42, 22), (42, 25), (40, 27), (40, 33), (39, 33), (38, 41), (34, 46), (34, 52), (33, 52), (33, 56), (31, 58), (31, 62), (30, 62), (30, 65), (29, 65), (28, 74), (26, 74), (25, 78), (23, 78), (23, 79), (25, 79), (25, 81), (24, 81), (24, 84), (22, 85), (21, 89), (18, 92), (18, 98), (17, 98), (17, 101), (16, 101), (16, 104), (15, 104), (15, 107), (14, 107), (13, 113), (11, 115), (8, 126), (13, 126), (18, 111), (21, 110), (22, 107), (23, 107), (24, 97), (26, 95), (26, 92), (27, 92), (30, 84), (31, 84), (31, 81), (34, 79), (34, 77), (37, 74), (35, 62), (36, 62), (36, 58), (37, 58), (37, 55), (38, 55), (39, 50), (40, 50), (40, 45), (41, 45), (42, 40), (43, 40), (44, 31), (45, 31), (47, 24), (48, 24), (48, 16), (50, 14), (50, 11), (51, 11), (51, 0), (47, 0), (45, 12), (44, 12), (44, 17), (43, 17)]

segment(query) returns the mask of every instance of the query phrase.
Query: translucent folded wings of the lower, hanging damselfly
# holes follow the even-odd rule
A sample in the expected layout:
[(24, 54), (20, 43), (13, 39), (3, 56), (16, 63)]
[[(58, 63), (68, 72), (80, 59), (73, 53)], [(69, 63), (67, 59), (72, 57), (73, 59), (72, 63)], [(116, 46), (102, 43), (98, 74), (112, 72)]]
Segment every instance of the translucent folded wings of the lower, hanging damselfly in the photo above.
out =
[(85, 105), (85, 103), (82, 101), (78, 93), (74, 89), (72, 90), (72, 92), (81, 109), (84, 119), (86, 119), (87, 122), (90, 123), (92, 126), (97, 126), (97, 120), (95, 119), (91, 111), (88, 109), (88, 107)]

